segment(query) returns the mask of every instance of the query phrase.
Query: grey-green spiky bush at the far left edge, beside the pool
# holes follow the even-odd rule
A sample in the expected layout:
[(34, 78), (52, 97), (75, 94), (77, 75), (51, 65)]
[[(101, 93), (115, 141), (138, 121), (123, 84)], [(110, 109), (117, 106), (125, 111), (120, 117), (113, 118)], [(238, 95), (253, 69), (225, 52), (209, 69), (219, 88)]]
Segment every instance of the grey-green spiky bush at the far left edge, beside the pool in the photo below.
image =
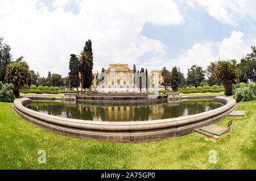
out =
[(14, 85), (11, 83), (3, 84), (0, 82), (0, 101), (1, 102), (13, 102), (15, 95), (13, 92)]

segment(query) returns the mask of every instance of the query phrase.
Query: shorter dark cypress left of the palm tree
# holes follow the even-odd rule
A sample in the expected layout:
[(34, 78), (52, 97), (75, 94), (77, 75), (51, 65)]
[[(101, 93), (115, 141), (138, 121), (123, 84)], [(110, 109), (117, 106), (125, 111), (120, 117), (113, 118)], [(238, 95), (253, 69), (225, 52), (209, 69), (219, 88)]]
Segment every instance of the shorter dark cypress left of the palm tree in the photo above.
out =
[(79, 78), (79, 58), (75, 54), (70, 55), (70, 61), (69, 61), (69, 70), (68, 73), (70, 83), (72, 87), (76, 87), (77, 91), (78, 87), (80, 86), (80, 78)]

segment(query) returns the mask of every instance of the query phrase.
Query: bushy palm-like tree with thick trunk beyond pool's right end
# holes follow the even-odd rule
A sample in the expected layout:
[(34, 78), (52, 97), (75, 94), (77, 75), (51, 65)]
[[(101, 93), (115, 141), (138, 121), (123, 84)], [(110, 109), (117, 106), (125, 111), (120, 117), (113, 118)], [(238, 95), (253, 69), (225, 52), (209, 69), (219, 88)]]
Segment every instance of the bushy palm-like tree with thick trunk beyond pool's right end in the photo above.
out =
[(217, 78), (225, 87), (225, 95), (232, 95), (232, 85), (239, 81), (240, 69), (237, 61), (218, 61), (214, 71), (214, 78)]

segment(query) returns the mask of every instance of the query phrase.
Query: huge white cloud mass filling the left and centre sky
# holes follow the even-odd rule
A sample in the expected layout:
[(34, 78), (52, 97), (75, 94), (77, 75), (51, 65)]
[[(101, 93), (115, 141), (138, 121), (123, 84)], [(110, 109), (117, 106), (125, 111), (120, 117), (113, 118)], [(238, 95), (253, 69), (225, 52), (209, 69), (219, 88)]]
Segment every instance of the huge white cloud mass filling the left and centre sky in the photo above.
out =
[(162, 25), (183, 23), (174, 2), (163, 1), (80, 1), (80, 12), (64, 12), (67, 1), (54, 1), (55, 11), (36, 1), (0, 1), (0, 35), (12, 48), (13, 56), (24, 56), (30, 69), (40, 75), (68, 74), (71, 53), (79, 54), (85, 41), (92, 40), (94, 71), (109, 64), (130, 67), (137, 58), (154, 50), (163, 56), (159, 40), (140, 36), (146, 22)]

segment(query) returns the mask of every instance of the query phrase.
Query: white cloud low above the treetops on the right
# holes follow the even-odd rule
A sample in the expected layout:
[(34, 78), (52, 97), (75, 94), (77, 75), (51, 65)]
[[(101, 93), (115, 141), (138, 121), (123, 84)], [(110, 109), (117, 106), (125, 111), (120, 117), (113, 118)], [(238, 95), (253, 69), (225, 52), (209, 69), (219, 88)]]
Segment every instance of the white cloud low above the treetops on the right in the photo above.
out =
[[(244, 34), (242, 32), (233, 31), (229, 38), (225, 38), (221, 42), (214, 43), (208, 41), (205, 43), (197, 43), (177, 58), (173, 58), (170, 61), (160, 61), (161, 64), (158, 66), (160, 68), (166, 66), (168, 69), (171, 69), (176, 65), (181, 68), (181, 72), (186, 76), (187, 69), (191, 68), (192, 65), (207, 69), (211, 61), (217, 61), (219, 59), (218, 51), (221, 60), (236, 59), (237, 62), (240, 63), (243, 56), (251, 53), (251, 48), (243, 40), (243, 36)], [(251, 45), (255, 43), (255, 39), (249, 42)]]

